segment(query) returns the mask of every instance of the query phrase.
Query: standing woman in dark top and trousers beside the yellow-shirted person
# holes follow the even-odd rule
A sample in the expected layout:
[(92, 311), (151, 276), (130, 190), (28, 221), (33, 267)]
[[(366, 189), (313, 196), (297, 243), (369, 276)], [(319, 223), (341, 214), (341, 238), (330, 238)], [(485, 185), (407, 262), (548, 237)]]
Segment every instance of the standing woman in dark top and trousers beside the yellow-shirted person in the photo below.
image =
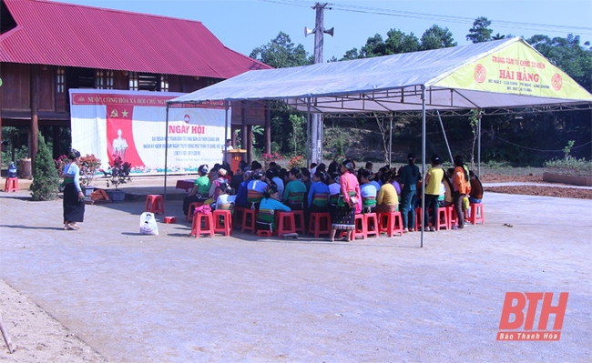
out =
[[(401, 207), (403, 232), (415, 230), (415, 207), (413, 200), (417, 194), (417, 182), (421, 178), (419, 167), (415, 165), (415, 154), (407, 154), (407, 165), (401, 168)], [(411, 219), (409, 219), (411, 215)]]

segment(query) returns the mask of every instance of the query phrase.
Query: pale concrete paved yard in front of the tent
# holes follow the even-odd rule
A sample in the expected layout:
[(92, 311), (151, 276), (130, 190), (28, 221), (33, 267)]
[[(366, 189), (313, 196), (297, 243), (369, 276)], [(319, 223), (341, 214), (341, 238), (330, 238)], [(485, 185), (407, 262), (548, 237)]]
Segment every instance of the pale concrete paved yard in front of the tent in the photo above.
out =
[[(591, 358), (590, 200), (489, 193), (485, 225), (420, 248), (189, 238), (180, 200), (158, 237), (138, 235), (143, 202), (87, 206), (64, 231), (61, 201), (27, 196), (0, 193), (0, 278), (113, 362)], [(561, 340), (496, 341), (507, 291), (568, 292)]]

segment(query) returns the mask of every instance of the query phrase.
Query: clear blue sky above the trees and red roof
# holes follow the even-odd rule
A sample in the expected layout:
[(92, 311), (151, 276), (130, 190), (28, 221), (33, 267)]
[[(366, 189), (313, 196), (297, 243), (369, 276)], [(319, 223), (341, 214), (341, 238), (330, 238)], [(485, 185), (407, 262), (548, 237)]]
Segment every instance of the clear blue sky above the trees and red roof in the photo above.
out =
[[(304, 26), (314, 27), (315, 1), (305, 0), (61, 0), (62, 3), (107, 7), (202, 22), (219, 40), (242, 54), (265, 45), (281, 31), (296, 45), (313, 53), (314, 36), (304, 37)], [(322, 3), (324, 4), (324, 3)], [(492, 21), (494, 34), (528, 38), (580, 35), (581, 43), (592, 43), (591, 0), (515, 1), (424, 1), (424, 0), (336, 0), (328, 3), (324, 27), (335, 28), (325, 35), (324, 60), (341, 58), (353, 47), (360, 48), (375, 34), (386, 37), (390, 29), (421, 37), (432, 25), (448, 27), (459, 45), (466, 45), (468, 29), (478, 16)]]

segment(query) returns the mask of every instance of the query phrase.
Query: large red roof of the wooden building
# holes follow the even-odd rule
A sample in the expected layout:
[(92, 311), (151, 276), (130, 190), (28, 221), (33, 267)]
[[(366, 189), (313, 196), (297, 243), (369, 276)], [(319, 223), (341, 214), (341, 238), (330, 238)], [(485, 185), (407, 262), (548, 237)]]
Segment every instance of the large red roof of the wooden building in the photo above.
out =
[(45, 0), (4, 0), (16, 27), (0, 61), (230, 78), (270, 68), (222, 45), (200, 22)]

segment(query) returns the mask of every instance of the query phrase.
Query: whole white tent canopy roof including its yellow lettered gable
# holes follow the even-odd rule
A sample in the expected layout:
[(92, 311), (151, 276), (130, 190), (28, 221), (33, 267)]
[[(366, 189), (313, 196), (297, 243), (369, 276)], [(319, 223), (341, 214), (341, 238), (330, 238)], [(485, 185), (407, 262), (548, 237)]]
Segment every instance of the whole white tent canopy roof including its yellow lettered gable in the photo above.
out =
[[(540, 93), (536, 88), (529, 88), (526, 92), (517, 89), (518, 82), (515, 80), (511, 80), (516, 82), (513, 93), (492, 91), (491, 86), (498, 89), (507, 87), (502, 85), (505, 80), (499, 79), (505, 76), (499, 69), (510, 68), (506, 64), (496, 63), (505, 62), (500, 56), (507, 53), (506, 48), (516, 46), (521, 52), (526, 52), (526, 55), (522, 55), (525, 59), (545, 59), (524, 40), (516, 37), (424, 52), (250, 71), (180, 96), (169, 103), (282, 99), (302, 111), (307, 110), (310, 101), (311, 112), (320, 113), (418, 111), (422, 109), (423, 87), (426, 89), (426, 109), (543, 106), (592, 101), (592, 95), (577, 84), (570, 84), (577, 88), (576, 98), (566, 96), (566, 92), (563, 92), (566, 91), (566, 86), (562, 92), (556, 94), (549, 92), (550, 86), (545, 86), (545, 90)], [(532, 66), (532, 73), (540, 73), (541, 84), (547, 82), (542, 79), (544, 74), (560, 74), (562, 77), (558, 79), (563, 80), (565, 85), (570, 80), (548, 61), (545, 64), (542, 60), (533, 62), (533, 65), (539, 67), (537, 69)], [(493, 69), (495, 66), (498, 69)], [(541, 70), (540, 67), (544, 69)], [(487, 70), (488, 82), (484, 82), (483, 76), (479, 77), (477, 70)], [(469, 78), (475, 77), (476, 81), (468, 86), (444, 85), (454, 84), (455, 73), (461, 71), (470, 72)], [(516, 73), (508, 75), (516, 77)], [(536, 82), (528, 83), (531, 87), (540, 86), (535, 84)]]

